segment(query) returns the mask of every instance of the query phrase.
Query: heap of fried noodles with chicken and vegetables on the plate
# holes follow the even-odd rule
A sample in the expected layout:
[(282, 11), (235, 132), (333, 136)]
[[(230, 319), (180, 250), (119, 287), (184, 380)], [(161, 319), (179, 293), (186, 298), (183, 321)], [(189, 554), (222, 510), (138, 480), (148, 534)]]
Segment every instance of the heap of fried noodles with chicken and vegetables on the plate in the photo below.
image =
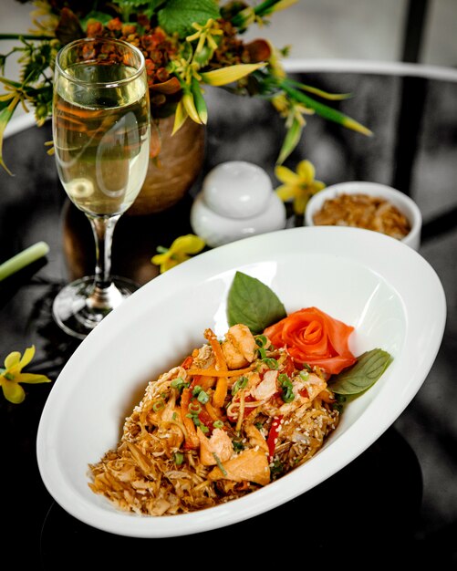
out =
[(120, 510), (171, 515), (230, 502), (309, 460), (338, 425), (318, 368), (242, 325), (222, 342), (211, 329), (205, 337), (149, 382), (117, 447), (89, 465), (91, 490)]

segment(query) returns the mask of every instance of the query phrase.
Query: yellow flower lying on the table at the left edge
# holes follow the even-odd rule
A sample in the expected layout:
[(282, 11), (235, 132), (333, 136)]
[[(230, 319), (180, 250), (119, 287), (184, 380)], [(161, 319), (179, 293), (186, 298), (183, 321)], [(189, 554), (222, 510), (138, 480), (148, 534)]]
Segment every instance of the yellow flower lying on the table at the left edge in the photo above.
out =
[(26, 348), (23, 357), (18, 351), (13, 351), (5, 358), (5, 369), (0, 368), (0, 385), (6, 400), (19, 404), (26, 398), (26, 392), (19, 383), (47, 383), (45, 375), (23, 373), (24, 369), (35, 356), (35, 346)]

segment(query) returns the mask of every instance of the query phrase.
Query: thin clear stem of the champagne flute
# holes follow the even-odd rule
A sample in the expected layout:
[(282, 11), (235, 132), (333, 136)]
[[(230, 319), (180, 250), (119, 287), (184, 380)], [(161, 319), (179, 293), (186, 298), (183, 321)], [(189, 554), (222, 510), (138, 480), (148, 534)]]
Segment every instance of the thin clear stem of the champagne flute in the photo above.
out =
[(121, 301), (121, 294), (111, 278), (111, 244), (118, 216), (90, 216), (95, 240), (95, 286), (88, 298), (88, 306), (110, 311)]

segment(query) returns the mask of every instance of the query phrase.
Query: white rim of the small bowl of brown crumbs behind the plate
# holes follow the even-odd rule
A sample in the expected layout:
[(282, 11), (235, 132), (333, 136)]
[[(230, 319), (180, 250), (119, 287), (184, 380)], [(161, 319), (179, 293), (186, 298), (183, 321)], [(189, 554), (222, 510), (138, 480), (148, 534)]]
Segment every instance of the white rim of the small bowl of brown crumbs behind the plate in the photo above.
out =
[(306, 226), (316, 225), (313, 222), (315, 213), (322, 208), (324, 202), (328, 199), (336, 198), (341, 194), (368, 194), (369, 196), (379, 196), (392, 203), (410, 221), (410, 233), (401, 242), (409, 245), (414, 250), (419, 250), (421, 246), (422, 216), (418, 205), (404, 192), (379, 182), (340, 182), (317, 192), (306, 205)]

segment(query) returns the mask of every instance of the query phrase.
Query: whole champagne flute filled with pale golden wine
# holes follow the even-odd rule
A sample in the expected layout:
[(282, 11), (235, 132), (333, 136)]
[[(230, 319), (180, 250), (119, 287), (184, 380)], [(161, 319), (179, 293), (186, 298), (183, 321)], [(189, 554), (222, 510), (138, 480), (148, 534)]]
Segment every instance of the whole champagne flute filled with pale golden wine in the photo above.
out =
[(88, 217), (96, 251), (95, 275), (66, 285), (53, 303), (57, 324), (73, 337), (86, 337), (138, 287), (110, 274), (111, 244), (146, 177), (150, 113), (137, 47), (98, 37), (58, 52), (52, 110), (57, 172), (71, 202)]

